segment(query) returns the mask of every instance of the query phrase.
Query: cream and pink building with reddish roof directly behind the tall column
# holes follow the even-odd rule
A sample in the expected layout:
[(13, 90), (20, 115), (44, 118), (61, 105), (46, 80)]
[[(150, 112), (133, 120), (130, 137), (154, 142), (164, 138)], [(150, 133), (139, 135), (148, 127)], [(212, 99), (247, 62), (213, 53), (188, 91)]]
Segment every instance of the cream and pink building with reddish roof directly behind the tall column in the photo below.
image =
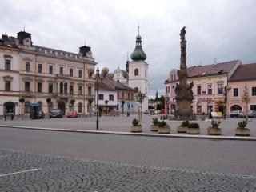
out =
[[(240, 65), (242, 65), (242, 62), (235, 60), (187, 68), (188, 82), (194, 82), (194, 100), (191, 106), (194, 114), (209, 114), (212, 111), (223, 113), (223, 87), (228, 85), (230, 77)], [(166, 94), (170, 96), (170, 110), (175, 110), (174, 89), (178, 81), (174, 80), (174, 75), (178, 75), (178, 70), (171, 70), (170, 75), (173, 75), (173, 81), (168, 78), (165, 82), (165, 87)]]

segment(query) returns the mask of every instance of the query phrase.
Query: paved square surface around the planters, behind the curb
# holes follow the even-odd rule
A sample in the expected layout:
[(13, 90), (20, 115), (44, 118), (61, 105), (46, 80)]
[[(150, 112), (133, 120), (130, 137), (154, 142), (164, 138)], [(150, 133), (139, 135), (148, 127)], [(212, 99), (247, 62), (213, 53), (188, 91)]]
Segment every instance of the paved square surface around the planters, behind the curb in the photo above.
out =
[[(142, 135), (152, 134), (154, 136), (158, 135), (155, 132), (150, 131), (150, 125), (152, 118), (155, 116), (143, 115), (142, 117)], [(135, 115), (130, 117), (106, 117), (102, 116), (99, 118), (99, 130), (98, 132), (110, 132), (110, 133), (130, 133), (130, 126), (133, 118), (137, 118)], [(225, 121), (221, 120), (222, 136), (226, 138), (233, 138), (234, 129), (237, 127), (239, 121), (242, 118), (227, 118)], [(199, 136), (189, 136), (187, 134), (178, 134), (177, 126), (180, 125), (180, 121), (167, 121), (171, 126), (171, 135), (174, 136), (184, 136), (184, 137), (198, 137), (207, 138), (206, 129), (210, 126), (210, 121), (194, 121), (198, 122), (201, 128), (201, 134)], [(83, 130), (94, 132), (96, 130), (96, 118), (54, 118), (54, 119), (40, 119), (40, 120), (14, 120), (14, 121), (0, 121), (0, 126), (24, 126), (24, 127), (41, 127), (41, 128), (53, 128), (62, 130)], [(250, 128), (250, 137), (256, 137), (256, 119), (248, 122), (248, 127)], [(221, 138), (221, 137), (218, 137)], [(238, 138), (238, 137), (235, 137)]]

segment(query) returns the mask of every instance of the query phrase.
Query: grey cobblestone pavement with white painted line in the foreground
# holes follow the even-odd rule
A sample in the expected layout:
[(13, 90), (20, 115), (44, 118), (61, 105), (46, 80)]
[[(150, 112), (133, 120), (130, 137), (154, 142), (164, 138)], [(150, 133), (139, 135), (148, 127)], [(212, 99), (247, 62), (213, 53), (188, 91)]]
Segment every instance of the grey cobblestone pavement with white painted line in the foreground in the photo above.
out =
[(0, 149), (0, 191), (256, 191), (256, 178)]

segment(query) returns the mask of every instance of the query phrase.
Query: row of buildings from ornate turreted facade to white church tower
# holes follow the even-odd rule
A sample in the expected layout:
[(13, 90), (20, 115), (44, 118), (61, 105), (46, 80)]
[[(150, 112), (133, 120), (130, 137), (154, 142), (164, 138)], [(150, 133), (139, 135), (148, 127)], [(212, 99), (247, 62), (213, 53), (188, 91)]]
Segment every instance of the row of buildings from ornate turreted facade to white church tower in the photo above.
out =
[[(147, 110), (148, 64), (139, 34), (131, 58), (131, 62), (127, 59), (126, 70), (118, 68), (113, 74), (107, 74), (107, 78), (100, 78), (100, 108), (107, 105), (109, 110), (136, 112), (138, 102), (134, 96), (141, 91), (146, 95), (142, 110)], [(63, 114), (69, 110), (92, 113), (96, 104), (95, 65), (89, 46), (81, 46), (75, 54), (35, 46), (31, 34), (25, 31), (18, 32), (17, 37), (3, 34), (0, 38), (0, 115), (28, 114), (31, 103), (38, 103), (45, 113), (54, 108), (61, 109)], [(105, 95), (102, 91), (109, 93)]]

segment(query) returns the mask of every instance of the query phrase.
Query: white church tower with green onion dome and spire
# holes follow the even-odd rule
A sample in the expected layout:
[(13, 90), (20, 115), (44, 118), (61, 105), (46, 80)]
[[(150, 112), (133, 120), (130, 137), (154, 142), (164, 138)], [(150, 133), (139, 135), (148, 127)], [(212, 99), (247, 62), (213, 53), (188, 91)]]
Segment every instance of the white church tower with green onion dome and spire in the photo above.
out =
[(144, 101), (142, 102), (142, 112), (145, 112), (145, 110), (148, 110), (149, 64), (145, 62), (146, 54), (142, 50), (142, 37), (139, 34), (139, 27), (138, 35), (136, 37), (136, 46), (134, 52), (130, 54), (130, 58), (132, 61), (129, 62), (129, 86), (146, 95), (146, 98), (144, 98)]

